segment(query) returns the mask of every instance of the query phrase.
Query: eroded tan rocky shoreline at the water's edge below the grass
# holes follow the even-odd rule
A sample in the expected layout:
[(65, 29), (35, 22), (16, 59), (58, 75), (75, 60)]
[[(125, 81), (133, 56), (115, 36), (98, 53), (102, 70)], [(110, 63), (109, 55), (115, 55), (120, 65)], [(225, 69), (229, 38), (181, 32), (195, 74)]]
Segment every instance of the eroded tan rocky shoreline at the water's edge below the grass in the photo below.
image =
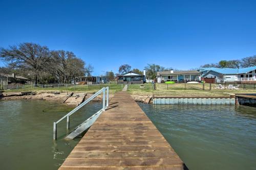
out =
[[(78, 106), (84, 100), (90, 98), (93, 93), (86, 92), (59, 92), (59, 91), (37, 91), (37, 92), (0, 92), (0, 100), (17, 100), (17, 99), (25, 99), (25, 100), (46, 100), (59, 102), (66, 105)], [(113, 98), (114, 94), (110, 94), (110, 100)], [(136, 102), (142, 103), (150, 103), (152, 102), (149, 96), (141, 96), (141, 95), (132, 95), (132, 98)], [(101, 102), (102, 95), (96, 96), (92, 100), (92, 102)]]

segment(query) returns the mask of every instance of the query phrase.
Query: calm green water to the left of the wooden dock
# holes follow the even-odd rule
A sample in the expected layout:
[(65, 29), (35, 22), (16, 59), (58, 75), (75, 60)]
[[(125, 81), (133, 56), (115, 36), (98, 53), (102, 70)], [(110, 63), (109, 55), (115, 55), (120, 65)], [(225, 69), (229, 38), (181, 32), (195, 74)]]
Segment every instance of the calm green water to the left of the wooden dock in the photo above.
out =
[[(71, 129), (96, 113), (101, 103), (89, 104), (70, 116)], [(34, 100), (0, 101), (0, 169), (58, 169), (78, 139), (63, 140), (65, 120), (58, 124), (53, 142), (53, 122), (72, 110), (66, 105)]]

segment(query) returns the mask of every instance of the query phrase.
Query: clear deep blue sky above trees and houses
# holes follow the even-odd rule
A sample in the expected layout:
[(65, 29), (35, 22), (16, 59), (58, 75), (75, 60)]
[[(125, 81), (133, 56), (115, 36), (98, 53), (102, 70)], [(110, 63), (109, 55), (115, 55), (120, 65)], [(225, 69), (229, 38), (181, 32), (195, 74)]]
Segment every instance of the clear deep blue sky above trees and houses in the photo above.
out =
[(35, 42), (72, 51), (94, 66), (94, 75), (121, 64), (190, 69), (256, 55), (255, 7), (256, 1), (1, 0), (0, 46)]

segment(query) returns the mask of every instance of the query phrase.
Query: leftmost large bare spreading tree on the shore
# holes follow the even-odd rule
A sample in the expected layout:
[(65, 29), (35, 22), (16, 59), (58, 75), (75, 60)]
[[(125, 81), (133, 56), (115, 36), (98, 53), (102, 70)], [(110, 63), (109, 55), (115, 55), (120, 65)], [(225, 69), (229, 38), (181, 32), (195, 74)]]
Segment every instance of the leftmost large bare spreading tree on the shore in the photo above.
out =
[(9, 48), (0, 48), (0, 58), (8, 63), (9, 67), (32, 71), (35, 75), (35, 84), (37, 84), (38, 74), (44, 69), (44, 65), (50, 61), (51, 53), (47, 46), (20, 43), (9, 46)]

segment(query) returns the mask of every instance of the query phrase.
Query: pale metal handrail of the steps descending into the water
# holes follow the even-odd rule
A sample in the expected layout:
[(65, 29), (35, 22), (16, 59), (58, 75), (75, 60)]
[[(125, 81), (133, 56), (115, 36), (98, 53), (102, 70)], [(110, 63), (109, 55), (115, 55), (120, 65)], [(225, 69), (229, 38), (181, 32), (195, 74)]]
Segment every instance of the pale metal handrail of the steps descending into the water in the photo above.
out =
[[(105, 92), (106, 91), (106, 92)], [(100, 93), (103, 93), (103, 98), (102, 98), (102, 110), (105, 111), (105, 109), (109, 106), (109, 87), (103, 87), (99, 91), (97, 91), (95, 94), (90, 96), (86, 101), (81, 103), (79, 106), (77, 106), (75, 109), (67, 113), (65, 116), (61, 117), (59, 120), (53, 123), (53, 139), (57, 139), (57, 124), (61, 122), (61, 120), (65, 119), (67, 117), (67, 130), (69, 130), (69, 116), (71, 116), (73, 113), (75, 113), (77, 110), (79, 110), (81, 107), (84, 105), (88, 104), (91, 100), (96, 98), (97, 95)], [(105, 96), (106, 95), (106, 96)], [(101, 110), (101, 109), (100, 109)]]

